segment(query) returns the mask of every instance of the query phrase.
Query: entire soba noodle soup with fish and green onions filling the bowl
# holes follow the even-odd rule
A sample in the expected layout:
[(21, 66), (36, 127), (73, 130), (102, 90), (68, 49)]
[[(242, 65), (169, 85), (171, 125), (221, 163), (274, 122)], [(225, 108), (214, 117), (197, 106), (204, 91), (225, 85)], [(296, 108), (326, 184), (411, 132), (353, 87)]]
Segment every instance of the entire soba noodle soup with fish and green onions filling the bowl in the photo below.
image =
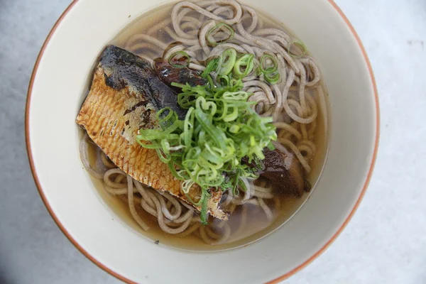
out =
[(277, 21), (234, 1), (176, 2), (111, 41), (77, 124), (84, 166), (126, 224), (180, 249), (231, 249), (277, 229), (312, 192), (327, 92)]

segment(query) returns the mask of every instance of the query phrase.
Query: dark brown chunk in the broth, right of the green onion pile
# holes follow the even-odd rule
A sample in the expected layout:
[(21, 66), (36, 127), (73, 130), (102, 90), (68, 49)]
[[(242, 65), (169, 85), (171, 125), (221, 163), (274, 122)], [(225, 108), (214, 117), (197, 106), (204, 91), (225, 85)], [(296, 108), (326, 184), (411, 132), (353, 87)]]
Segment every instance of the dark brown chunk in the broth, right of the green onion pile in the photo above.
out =
[(264, 170), (261, 176), (271, 182), (271, 185), (285, 195), (300, 197), (303, 191), (309, 191), (310, 185), (305, 180), (302, 166), (293, 153), (283, 152), (275, 149), (273, 151), (266, 148)]

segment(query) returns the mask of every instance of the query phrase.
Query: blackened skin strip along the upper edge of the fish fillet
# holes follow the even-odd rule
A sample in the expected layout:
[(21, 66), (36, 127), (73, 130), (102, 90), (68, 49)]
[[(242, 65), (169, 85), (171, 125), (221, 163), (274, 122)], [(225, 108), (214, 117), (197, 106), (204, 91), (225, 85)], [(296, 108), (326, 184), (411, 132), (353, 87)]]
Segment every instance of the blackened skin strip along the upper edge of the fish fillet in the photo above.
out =
[(178, 97), (155, 74), (151, 62), (115, 45), (108, 45), (99, 57), (105, 83), (117, 91), (129, 87), (133, 94), (144, 94), (158, 111), (170, 107), (180, 119), (186, 111), (178, 105)]

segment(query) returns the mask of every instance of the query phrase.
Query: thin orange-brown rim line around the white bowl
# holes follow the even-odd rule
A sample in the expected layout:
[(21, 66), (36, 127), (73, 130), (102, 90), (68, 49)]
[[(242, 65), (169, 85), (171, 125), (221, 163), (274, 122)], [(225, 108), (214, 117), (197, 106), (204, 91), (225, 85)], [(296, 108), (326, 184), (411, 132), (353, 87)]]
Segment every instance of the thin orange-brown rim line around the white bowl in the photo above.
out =
[[(26, 113), (25, 113), (25, 115), (26, 115), (26, 117), (25, 117), (25, 133), (26, 133), (26, 148), (27, 148), (28, 160), (29, 160), (30, 167), (31, 167), (31, 173), (33, 174), (35, 185), (36, 185), (36, 187), (38, 189), (40, 197), (43, 200), (43, 203), (45, 204), (45, 207), (48, 209), (48, 212), (49, 212), (50, 216), (53, 218), (53, 220), (55, 221), (55, 223), (58, 225), (58, 227), (62, 231), (62, 233), (65, 234), (65, 236), (67, 237), (67, 239), (69, 239), (71, 241), (71, 243), (82, 254), (84, 254), (84, 256), (86, 256), (87, 258), (89, 258), (90, 261), (92, 261), (94, 264), (96, 264), (97, 266), (99, 266), (99, 268), (102, 268), (104, 271), (107, 271), (107, 273), (113, 275), (114, 277), (118, 278), (121, 281), (124, 281), (125, 283), (136, 283), (136, 282), (133, 282), (132, 280), (124, 277), (123, 275), (120, 275), (119, 273), (116, 273), (116, 272), (112, 271), (111, 268), (108, 268), (103, 263), (97, 261), (97, 259), (94, 258), (94, 256), (90, 255), (90, 253), (88, 253), (86, 250), (84, 250), (82, 248), (82, 246), (80, 246), (80, 244), (78, 244), (77, 241), (75, 241), (75, 239), (72, 239), (72, 236), (65, 229), (65, 226), (63, 226), (59, 222), (58, 217), (56, 217), (55, 213), (52, 210), (52, 207), (50, 207), (50, 204), (46, 200), (46, 197), (45, 197), (44, 192), (43, 192), (43, 190), (41, 188), (41, 185), (40, 185), (40, 180), (38, 180), (37, 172), (35, 171), (33, 155), (32, 155), (32, 152), (31, 152), (31, 142), (30, 142), (30, 139), (29, 139), (29, 133), (30, 133), (30, 129), (29, 129), (29, 112), (30, 112), (31, 93), (33, 91), (33, 83), (34, 83), (34, 79), (35, 79), (35, 74), (37, 73), (38, 65), (40, 63), (41, 58), (43, 57), (43, 53), (44, 53), (45, 48), (47, 47), (47, 45), (48, 45), (48, 43), (50, 41), (50, 38), (52, 38), (52, 35), (53, 35), (53, 33), (55, 33), (55, 31), (58, 28), (60, 22), (63, 20), (63, 18), (65, 18), (65, 16), (67, 15), (67, 13), (70, 12), (70, 10), (72, 9), (72, 7), (75, 6), (75, 4), (77, 3), (77, 1), (78, 0), (73, 0), (72, 3), (67, 7), (67, 9), (65, 9), (65, 11), (63, 11), (63, 13), (60, 15), (60, 17), (58, 18), (58, 21), (56, 21), (55, 25), (50, 30), (50, 33), (48, 34), (47, 38), (45, 39), (45, 42), (43, 43), (43, 46), (42, 46), (42, 48), (40, 50), (40, 53), (38, 54), (37, 60), (35, 61), (35, 65), (34, 65), (34, 68), (33, 68), (33, 73), (31, 75), (31, 80), (30, 80), (30, 83), (29, 83), (29, 86), (28, 86), (28, 94), (27, 94), (27, 99), (26, 99)], [(313, 256), (311, 256), (310, 258), (308, 258), (306, 261), (304, 261), (303, 263), (301, 263), (296, 268), (293, 268), (293, 270), (289, 271), (288, 273), (285, 273), (284, 275), (282, 275), (282, 276), (280, 276), (278, 278), (275, 278), (275, 279), (269, 281), (268, 284), (279, 283), (280, 281), (283, 281), (283, 280), (289, 278), (290, 276), (294, 275), (298, 271), (301, 271), (307, 265), (309, 265), (310, 263), (312, 263), (312, 261), (314, 261), (318, 256), (320, 256), (326, 249), (328, 249), (328, 247), (333, 243), (333, 241), (335, 239), (337, 239), (337, 236), (339, 236), (339, 234), (342, 233), (342, 231), (344, 230), (344, 228), (346, 227), (346, 225), (349, 223), (349, 221), (351, 220), (351, 218), (354, 216), (354, 213), (356, 212), (356, 209), (358, 209), (359, 204), (361, 203), (361, 200), (363, 199), (363, 197), (364, 197), (364, 195), (366, 193), (366, 190), (367, 190), (367, 187), (368, 187), (368, 183), (370, 182), (371, 175), (373, 174), (374, 164), (376, 163), (376, 157), (377, 157), (377, 152), (378, 152), (378, 138), (379, 138), (380, 115), (379, 115), (379, 108), (378, 108), (377, 85), (376, 85), (376, 80), (375, 80), (374, 75), (373, 75), (373, 68), (371, 67), (371, 63), (370, 63), (370, 60), (368, 60), (368, 56), (367, 56), (366, 50), (364, 48), (364, 45), (361, 43), (361, 39), (359, 38), (359, 35), (356, 33), (356, 31), (354, 29), (354, 26), (351, 25), (351, 23), (349, 22), (349, 19), (346, 18), (346, 16), (342, 12), (342, 10), (339, 8), (339, 6), (337, 6), (336, 3), (334, 3), (333, 0), (327, 0), (327, 1), (329, 2), (329, 4), (331, 4), (333, 6), (334, 9), (336, 9), (337, 13), (339, 13), (339, 15), (343, 18), (344, 22), (346, 23), (346, 25), (349, 27), (352, 35), (354, 35), (354, 38), (356, 39), (356, 42), (358, 43), (359, 48), (361, 49), (361, 52), (362, 52), (362, 54), (364, 56), (364, 60), (365, 60), (366, 65), (368, 67), (368, 72), (369, 72), (370, 77), (371, 77), (371, 83), (373, 84), (374, 97), (375, 97), (375, 103), (376, 103), (376, 139), (375, 139), (375, 142), (374, 142), (373, 158), (371, 159), (370, 168), (368, 170), (368, 175), (367, 175), (366, 181), (364, 182), (364, 187), (363, 187), (363, 189), (361, 191), (361, 194), (359, 195), (358, 200), (356, 200), (354, 208), (351, 209), (351, 212), (349, 213), (349, 216), (346, 217), (346, 219), (345, 219), (344, 223), (342, 224), (342, 226), (339, 227), (339, 229), (333, 234), (333, 236), (329, 239), (329, 241), (327, 241), (327, 243), (324, 244), (321, 247), (321, 249), (317, 251), (317, 253), (315, 253)]]

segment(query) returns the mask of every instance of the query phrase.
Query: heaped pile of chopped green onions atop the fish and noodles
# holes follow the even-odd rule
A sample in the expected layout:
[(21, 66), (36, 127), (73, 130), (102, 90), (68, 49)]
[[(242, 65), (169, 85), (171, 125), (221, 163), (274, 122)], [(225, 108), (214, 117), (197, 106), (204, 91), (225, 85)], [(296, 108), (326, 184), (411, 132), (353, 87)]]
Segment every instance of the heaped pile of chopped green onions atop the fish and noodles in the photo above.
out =
[[(209, 192), (229, 189), (237, 195), (239, 189), (246, 191), (241, 178), (257, 177), (258, 161), (265, 158), (263, 148), (273, 148), (272, 141), (277, 139), (271, 118), (251, 109), (253, 103), (247, 102), (251, 94), (242, 91), (241, 79), (231, 75), (217, 79), (222, 86), (172, 83), (181, 89), (178, 104), (188, 109), (185, 119), (178, 119), (169, 108), (161, 109), (157, 113), (160, 129), (141, 129), (136, 136), (141, 146), (155, 149), (173, 176), (182, 180), (187, 200), (201, 207), (203, 224)], [(255, 166), (242, 163), (243, 159), (254, 161)], [(191, 199), (192, 185), (200, 186), (200, 200)]]

